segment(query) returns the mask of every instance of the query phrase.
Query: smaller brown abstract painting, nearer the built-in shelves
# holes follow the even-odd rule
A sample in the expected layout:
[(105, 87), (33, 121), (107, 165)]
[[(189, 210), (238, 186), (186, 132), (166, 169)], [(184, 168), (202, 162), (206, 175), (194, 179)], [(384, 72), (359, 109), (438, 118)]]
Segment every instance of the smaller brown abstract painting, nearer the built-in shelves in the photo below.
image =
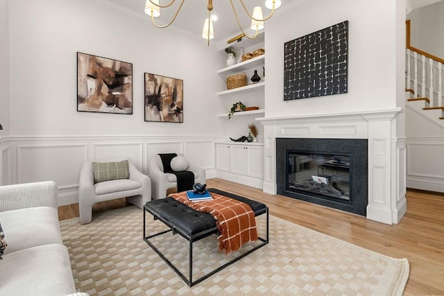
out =
[(183, 80), (145, 73), (145, 121), (183, 122)]

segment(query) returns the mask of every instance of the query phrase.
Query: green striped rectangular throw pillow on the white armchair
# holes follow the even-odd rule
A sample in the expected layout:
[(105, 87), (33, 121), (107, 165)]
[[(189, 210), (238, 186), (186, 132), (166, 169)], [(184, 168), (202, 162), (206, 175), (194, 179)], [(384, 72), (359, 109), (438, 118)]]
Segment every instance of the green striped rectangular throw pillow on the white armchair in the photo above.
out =
[(109, 180), (129, 179), (128, 160), (121, 162), (93, 162), (94, 184)]

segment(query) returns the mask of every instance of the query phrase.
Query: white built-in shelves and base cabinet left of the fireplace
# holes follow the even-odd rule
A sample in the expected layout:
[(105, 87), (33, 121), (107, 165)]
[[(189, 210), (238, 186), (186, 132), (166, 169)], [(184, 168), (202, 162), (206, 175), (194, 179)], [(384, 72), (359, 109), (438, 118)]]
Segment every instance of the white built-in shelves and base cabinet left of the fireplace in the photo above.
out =
[[(238, 53), (240, 49), (243, 49), (244, 53), (246, 53), (264, 48), (262, 47), (264, 46), (264, 33), (255, 40), (243, 40), (231, 46)], [(255, 70), (262, 72), (264, 65), (265, 55), (259, 55), (250, 60), (219, 69), (216, 73), (221, 79), (225, 80), (228, 76), (244, 72), (246, 73), (247, 81), (250, 82), (253, 72)], [(258, 74), (263, 78), (260, 73)], [(229, 112), (217, 114), (216, 116), (221, 118), (221, 120), (226, 120), (228, 134), (238, 134), (239, 130), (245, 130), (247, 124), (255, 121), (255, 117), (257, 117), (255, 114), (265, 113), (264, 80), (235, 89), (221, 89), (217, 92), (217, 95), (227, 105), (226, 110), (230, 110), (231, 105), (238, 101), (241, 101), (247, 107), (259, 107), (258, 110), (234, 112), (230, 121), (228, 120)], [(233, 119), (233, 117), (236, 117), (236, 119)], [(263, 134), (263, 130), (261, 130), (259, 125), (259, 133)], [(215, 148), (217, 177), (262, 189), (264, 184), (264, 143), (218, 142)]]

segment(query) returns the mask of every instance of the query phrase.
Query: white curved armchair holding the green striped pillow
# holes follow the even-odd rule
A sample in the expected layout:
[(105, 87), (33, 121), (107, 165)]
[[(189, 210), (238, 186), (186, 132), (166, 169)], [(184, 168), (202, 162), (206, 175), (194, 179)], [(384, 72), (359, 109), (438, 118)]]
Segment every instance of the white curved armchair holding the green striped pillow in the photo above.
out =
[[(93, 162), (121, 162), (122, 160), (128, 160), (128, 179), (109, 180), (94, 184)], [(117, 198), (127, 198), (127, 202), (143, 209), (144, 204), (151, 200), (150, 178), (139, 172), (127, 157), (89, 159), (84, 162), (78, 186), (80, 223), (91, 222), (93, 204)]]

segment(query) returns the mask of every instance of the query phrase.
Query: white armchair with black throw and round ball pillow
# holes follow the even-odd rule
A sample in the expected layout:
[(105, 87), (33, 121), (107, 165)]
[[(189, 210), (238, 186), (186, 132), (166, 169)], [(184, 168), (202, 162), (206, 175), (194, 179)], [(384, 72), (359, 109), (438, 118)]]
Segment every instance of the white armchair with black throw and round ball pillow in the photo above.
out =
[[(178, 154), (178, 156), (183, 156)], [(177, 177), (171, 173), (164, 173), (164, 166), (159, 155), (153, 155), (148, 161), (148, 171), (151, 178), (151, 196), (154, 200), (167, 197), (167, 190), (177, 187)], [(194, 173), (194, 184), (205, 184), (205, 170), (194, 164), (188, 164), (187, 171)]]

